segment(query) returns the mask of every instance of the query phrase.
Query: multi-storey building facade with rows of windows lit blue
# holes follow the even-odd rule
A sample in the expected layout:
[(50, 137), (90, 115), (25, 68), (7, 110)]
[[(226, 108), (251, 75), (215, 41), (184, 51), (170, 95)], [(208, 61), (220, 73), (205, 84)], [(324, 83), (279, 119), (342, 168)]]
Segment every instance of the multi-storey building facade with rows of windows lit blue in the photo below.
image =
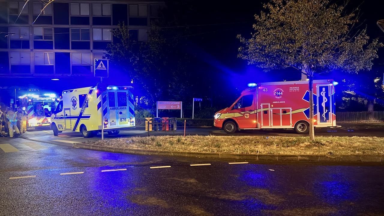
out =
[(146, 41), (151, 20), (163, 5), (145, 0), (0, 0), (0, 77), (93, 76), (93, 59), (102, 58), (108, 43), (118, 40), (112, 34), (117, 25), (127, 25), (132, 40)]

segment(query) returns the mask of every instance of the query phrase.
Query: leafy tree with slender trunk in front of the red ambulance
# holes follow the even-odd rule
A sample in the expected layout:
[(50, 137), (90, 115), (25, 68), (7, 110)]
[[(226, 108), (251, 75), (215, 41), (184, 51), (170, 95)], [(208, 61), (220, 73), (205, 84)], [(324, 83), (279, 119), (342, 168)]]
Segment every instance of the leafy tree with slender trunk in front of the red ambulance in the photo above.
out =
[(266, 71), (295, 68), (309, 79), (310, 138), (314, 140), (313, 78), (339, 69), (349, 73), (370, 70), (378, 39), (368, 44), (366, 29), (355, 30), (355, 12), (328, 0), (271, 0), (267, 13), (255, 15), (252, 38), (243, 43), (238, 57)]

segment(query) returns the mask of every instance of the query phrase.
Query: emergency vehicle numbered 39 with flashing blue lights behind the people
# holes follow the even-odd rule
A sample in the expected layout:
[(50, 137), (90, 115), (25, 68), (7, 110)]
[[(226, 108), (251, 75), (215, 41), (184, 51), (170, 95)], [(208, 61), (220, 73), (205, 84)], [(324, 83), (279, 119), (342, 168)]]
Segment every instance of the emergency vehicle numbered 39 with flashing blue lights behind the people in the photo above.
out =
[(34, 130), (36, 127), (50, 126), (51, 114), (56, 109), (58, 98), (53, 93), (32, 92), (19, 96), (19, 106), (25, 107), (27, 113), (27, 130)]

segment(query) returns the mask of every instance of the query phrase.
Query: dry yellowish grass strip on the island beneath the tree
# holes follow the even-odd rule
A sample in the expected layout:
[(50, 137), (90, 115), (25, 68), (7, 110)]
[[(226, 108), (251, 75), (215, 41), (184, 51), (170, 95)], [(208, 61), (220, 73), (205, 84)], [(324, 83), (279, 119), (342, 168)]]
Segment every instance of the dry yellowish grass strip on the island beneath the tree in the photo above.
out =
[(318, 136), (149, 136), (89, 141), (144, 150), (275, 155), (384, 155), (384, 138)]

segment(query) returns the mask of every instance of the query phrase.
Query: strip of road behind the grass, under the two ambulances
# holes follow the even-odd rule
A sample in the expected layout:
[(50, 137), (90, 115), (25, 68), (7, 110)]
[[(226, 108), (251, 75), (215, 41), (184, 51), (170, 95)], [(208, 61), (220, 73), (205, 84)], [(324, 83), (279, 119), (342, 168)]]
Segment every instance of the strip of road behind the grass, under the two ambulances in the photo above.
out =
[[(179, 129), (183, 129), (180, 128)], [(341, 128), (318, 128), (315, 135), (317, 136), (379, 136), (384, 137), (384, 123), (377, 124), (344, 124)], [(183, 135), (184, 130), (173, 131), (150, 131), (150, 135)], [(215, 136), (307, 136), (296, 134), (293, 130), (243, 130), (237, 133), (227, 134), (223, 130), (214, 127), (187, 127), (186, 135), (215, 135)], [(104, 133), (104, 138), (119, 138), (129, 136), (148, 136), (148, 132), (145, 131), (144, 126), (137, 126), (136, 128), (121, 130), (118, 135), (109, 136)], [(99, 140), (101, 134), (93, 138), (83, 138), (79, 132), (63, 132), (59, 136), (53, 136), (52, 130), (49, 128), (42, 128), (41, 130), (28, 131), (23, 135), (24, 138), (28, 138), (35, 141), (44, 141), (53, 144), (61, 144), (72, 146), (74, 142), (86, 142), (88, 140)]]

